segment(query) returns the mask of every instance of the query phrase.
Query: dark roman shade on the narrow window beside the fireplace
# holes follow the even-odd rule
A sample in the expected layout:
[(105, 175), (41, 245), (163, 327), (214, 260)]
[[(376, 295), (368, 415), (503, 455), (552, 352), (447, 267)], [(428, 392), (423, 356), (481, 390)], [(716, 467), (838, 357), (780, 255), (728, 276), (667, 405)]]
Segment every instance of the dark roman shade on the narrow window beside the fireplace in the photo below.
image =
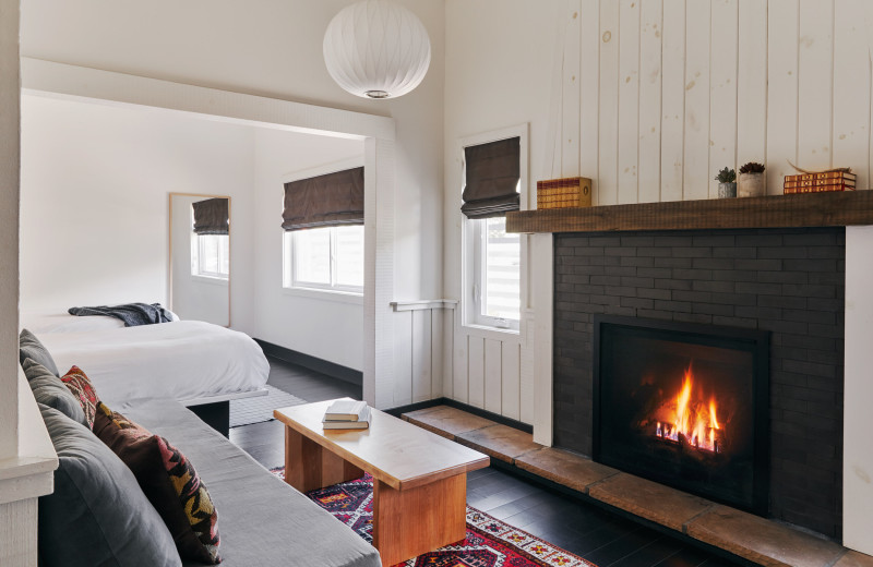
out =
[(464, 148), (467, 184), (461, 212), (467, 218), (502, 217), (518, 210), (521, 154), (519, 137)]

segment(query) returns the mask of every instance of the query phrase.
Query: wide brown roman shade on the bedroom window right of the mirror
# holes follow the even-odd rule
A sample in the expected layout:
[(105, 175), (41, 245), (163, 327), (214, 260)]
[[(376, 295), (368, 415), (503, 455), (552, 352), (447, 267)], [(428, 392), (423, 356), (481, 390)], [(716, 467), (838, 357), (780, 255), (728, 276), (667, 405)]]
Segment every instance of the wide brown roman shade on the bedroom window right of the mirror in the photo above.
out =
[(363, 225), (363, 168), (285, 183), (282, 228)]

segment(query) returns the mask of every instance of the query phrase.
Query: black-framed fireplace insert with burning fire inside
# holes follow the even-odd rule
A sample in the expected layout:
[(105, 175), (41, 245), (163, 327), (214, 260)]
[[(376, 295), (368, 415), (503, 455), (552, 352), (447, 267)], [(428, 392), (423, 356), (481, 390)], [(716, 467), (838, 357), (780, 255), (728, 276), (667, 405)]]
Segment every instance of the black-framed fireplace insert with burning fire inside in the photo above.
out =
[(595, 460), (768, 511), (769, 333), (594, 318)]

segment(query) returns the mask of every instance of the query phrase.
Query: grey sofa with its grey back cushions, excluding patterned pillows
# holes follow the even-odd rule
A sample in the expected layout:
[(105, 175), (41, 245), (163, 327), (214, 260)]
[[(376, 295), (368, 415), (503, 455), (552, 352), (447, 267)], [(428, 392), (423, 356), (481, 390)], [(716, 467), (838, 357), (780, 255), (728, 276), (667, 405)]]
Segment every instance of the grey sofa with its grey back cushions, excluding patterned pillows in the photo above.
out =
[[(39, 499), (40, 565), (178, 567), (172, 535), (128, 467), (92, 432), (45, 347), (21, 337), (21, 362), (59, 456)], [(379, 567), (379, 552), (331, 514), (169, 399), (128, 401), (124, 415), (193, 465), (218, 512), (224, 567)], [(93, 417), (92, 417), (93, 419)]]

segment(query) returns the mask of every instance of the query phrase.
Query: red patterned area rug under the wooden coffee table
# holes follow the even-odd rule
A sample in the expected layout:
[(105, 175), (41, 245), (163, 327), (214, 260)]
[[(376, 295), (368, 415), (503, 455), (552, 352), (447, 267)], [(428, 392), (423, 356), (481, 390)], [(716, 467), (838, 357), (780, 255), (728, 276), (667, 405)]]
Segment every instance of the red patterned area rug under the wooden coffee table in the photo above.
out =
[[(285, 478), (285, 467), (272, 471)], [(373, 542), (373, 478), (370, 474), (350, 482), (307, 494), (355, 532)], [(467, 538), (435, 552), (399, 564), (406, 567), (597, 567), (572, 553), (513, 528), (467, 506)]]

